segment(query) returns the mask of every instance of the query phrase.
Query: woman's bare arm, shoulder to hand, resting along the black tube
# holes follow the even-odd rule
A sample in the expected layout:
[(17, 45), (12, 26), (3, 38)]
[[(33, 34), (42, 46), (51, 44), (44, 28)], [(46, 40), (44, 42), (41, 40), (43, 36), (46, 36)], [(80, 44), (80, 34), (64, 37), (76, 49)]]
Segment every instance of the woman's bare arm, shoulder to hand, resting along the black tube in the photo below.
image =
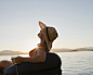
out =
[(30, 58), (18, 57), (18, 58), (12, 59), (12, 61), (16, 64), (22, 63), (22, 62), (38, 63), (38, 62), (44, 62), (45, 59), (46, 59), (46, 53), (44, 52), (44, 50), (37, 50), (35, 57), (30, 57)]

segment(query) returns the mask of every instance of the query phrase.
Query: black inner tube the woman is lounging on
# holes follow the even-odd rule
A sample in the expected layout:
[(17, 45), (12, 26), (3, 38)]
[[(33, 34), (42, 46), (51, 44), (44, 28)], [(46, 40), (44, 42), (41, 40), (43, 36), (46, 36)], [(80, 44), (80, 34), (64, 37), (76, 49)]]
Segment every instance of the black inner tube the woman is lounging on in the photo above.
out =
[(17, 65), (11, 65), (3, 70), (3, 75), (16, 75), (16, 66), (18, 74), (32, 74), (44, 71), (53, 71), (61, 68), (62, 61), (61, 58), (55, 53), (46, 53), (45, 62), (40, 63), (31, 63), (31, 62), (23, 62)]

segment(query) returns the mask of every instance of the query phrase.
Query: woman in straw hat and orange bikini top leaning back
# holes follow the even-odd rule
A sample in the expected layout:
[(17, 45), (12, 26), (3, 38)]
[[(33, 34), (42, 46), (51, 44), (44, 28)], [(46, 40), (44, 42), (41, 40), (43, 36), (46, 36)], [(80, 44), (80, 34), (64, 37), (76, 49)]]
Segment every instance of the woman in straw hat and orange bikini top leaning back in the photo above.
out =
[(44, 25), (41, 22), (39, 22), (39, 25), (41, 27), (41, 30), (38, 34), (38, 37), (40, 38), (40, 43), (37, 45), (37, 48), (29, 51), (29, 58), (17, 57), (17, 58), (13, 58), (12, 62), (1, 61), (0, 70), (3, 70), (13, 64), (19, 64), (22, 62), (38, 63), (45, 61), (46, 53), (49, 53), (49, 51), (51, 50), (52, 42), (56, 39), (57, 33), (54, 27), (46, 27), (46, 25)]

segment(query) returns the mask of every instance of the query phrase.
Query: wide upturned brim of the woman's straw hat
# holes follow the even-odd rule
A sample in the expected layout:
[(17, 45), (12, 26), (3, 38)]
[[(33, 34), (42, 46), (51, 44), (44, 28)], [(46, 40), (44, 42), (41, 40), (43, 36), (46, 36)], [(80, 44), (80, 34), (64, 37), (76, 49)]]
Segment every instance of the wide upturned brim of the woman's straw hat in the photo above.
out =
[(50, 49), (51, 49), (51, 41), (49, 41), (49, 39), (48, 39), (46, 25), (43, 24), (42, 22), (39, 22), (39, 26), (40, 26), (41, 29), (42, 29), (42, 33), (43, 33), (43, 36), (44, 36), (44, 38), (45, 38), (48, 48), (49, 48), (49, 50), (50, 50)]

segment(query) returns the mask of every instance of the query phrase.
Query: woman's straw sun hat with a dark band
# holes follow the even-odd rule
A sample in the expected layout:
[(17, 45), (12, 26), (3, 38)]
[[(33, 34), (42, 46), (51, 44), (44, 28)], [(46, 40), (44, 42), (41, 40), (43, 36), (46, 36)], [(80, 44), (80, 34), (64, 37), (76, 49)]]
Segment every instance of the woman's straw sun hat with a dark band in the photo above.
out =
[(46, 26), (45, 24), (43, 24), (42, 22), (39, 22), (39, 25), (42, 29), (42, 33), (43, 33), (43, 36), (45, 38), (45, 41), (46, 41), (46, 45), (48, 45), (48, 48), (49, 50), (51, 49), (52, 47), (52, 42), (56, 39), (57, 37), (57, 32), (54, 27), (50, 27), (50, 26)]

